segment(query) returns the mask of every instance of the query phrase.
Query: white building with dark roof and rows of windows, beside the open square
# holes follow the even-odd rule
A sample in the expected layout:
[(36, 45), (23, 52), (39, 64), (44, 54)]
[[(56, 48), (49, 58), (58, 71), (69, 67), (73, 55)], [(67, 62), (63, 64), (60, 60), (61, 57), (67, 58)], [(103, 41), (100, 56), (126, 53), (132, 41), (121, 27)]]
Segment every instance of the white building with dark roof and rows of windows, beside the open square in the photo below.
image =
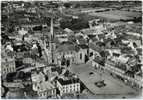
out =
[(80, 93), (80, 82), (79, 79), (58, 79), (57, 88), (60, 91), (60, 96), (64, 94)]

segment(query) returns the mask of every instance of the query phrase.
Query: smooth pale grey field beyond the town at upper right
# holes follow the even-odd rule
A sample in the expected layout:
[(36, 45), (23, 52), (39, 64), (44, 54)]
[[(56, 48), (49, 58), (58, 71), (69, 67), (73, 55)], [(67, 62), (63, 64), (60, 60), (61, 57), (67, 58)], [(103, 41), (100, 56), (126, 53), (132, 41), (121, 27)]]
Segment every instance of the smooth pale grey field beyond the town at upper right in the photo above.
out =
[(89, 13), (89, 15), (103, 17), (109, 20), (120, 20), (120, 19), (129, 20), (129, 19), (133, 19), (134, 17), (138, 18), (142, 16), (140, 12), (119, 11), (119, 10), (93, 12), (93, 13)]

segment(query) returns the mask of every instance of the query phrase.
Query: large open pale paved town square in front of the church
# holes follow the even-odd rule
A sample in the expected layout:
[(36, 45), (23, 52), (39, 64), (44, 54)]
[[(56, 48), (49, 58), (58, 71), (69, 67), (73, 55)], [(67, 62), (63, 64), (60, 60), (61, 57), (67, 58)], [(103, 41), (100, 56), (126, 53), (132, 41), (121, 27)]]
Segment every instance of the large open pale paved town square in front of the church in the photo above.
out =
[[(87, 86), (87, 88), (94, 93), (95, 95), (104, 95), (107, 96), (118, 96), (118, 95), (137, 95), (138, 92), (131, 87), (125, 85), (123, 82), (118, 79), (113, 78), (106, 72), (102, 73), (102, 79), (105, 81), (106, 86), (102, 88), (98, 88), (94, 85), (95, 82), (100, 80), (99, 71), (95, 70), (91, 62), (88, 64), (81, 65), (72, 65), (69, 69), (71, 72), (76, 73), (80, 80)], [(94, 72), (94, 74), (89, 75), (90, 72)]]

